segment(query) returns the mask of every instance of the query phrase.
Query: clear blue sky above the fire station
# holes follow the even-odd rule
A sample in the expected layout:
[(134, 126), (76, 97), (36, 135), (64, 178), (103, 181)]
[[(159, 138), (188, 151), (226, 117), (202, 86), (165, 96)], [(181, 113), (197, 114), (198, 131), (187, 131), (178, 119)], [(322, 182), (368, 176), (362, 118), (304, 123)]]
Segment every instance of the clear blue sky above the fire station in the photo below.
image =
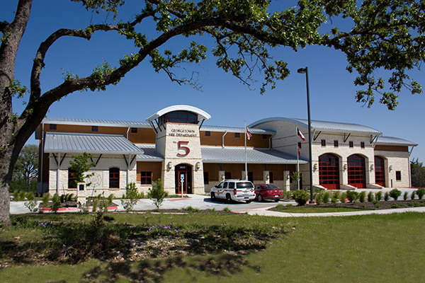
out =
[[(6, 3), (1, 4), (0, 21), (11, 21), (17, 1), (3, 2)], [(127, 2), (129, 5), (118, 17), (123, 21), (128, 21), (132, 13), (140, 11), (138, 1)], [(276, 5), (275, 2), (273, 4)], [(85, 28), (91, 22), (101, 23), (104, 20), (105, 15), (86, 12), (80, 4), (71, 1), (34, 1), (30, 23), (18, 52), (15, 79), (29, 86), (36, 50), (40, 42), (58, 28)], [(341, 23), (339, 19), (333, 23), (349, 26), (349, 23)], [(47, 116), (145, 121), (157, 110), (170, 105), (187, 104), (205, 110), (212, 116), (205, 125), (244, 127), (244, 120), (249, 125), (265, 117), (307, 118), (305, 75), (297, 74), (297, 69), (308, 67), (312, 120), (367, 125), (378, 129), (385, 136), (414, 141), (419, 146), (412, 151), (412, 158), (425, 162), (424, 94), (413, 96), (403, 90), (399, 93), (399, 105), (395, 111), (387, 110), (385, 105), (378, 103), (378, 97), (372, 108), (366, 108), (356, 103), (358, 88), (353, 84), (356, 76), (345, 70), (347, 63), (344, 54), (325, 47), (307, 47), (298, 52), (288, 47), (278, 47), (272, 50), (272, 54), (276, 59), (288, 62), (290, 76), (285, 81), (279, 81), (274, 90), (268, 89), (261, 96), (260, 82), (253, 86), (254, 91), (250, 91), (238, 79), (215, 67), (214, 58), (210, 54), (212, 40), (207, 37), (189, 40), (178, 37), (164, 48), (186, 47), (191, 40), (204, 43), (209, 50), (210, 56), (201, 62), (202, 66), (186, 66), (186, 76), (191, 76), (191, 71), (198, 71), (198, 83), (202, 85), (203, 91), (171, 83), (164, 72), (155, 73), (146, 61), (127, 74), (117, 86), (108, 86), (106, 91), (72, 93), (62, 98), (52, 105)], [(42, 72), (42, 91), (62, 83), (64, 70), (86, 76), (103, 60), (116, 64), (123, 54), (131, 52), (137, 52), (132, 42), (117, 33), (95, 33), (90, 41), (62, 38), (47, 52), (46, 66)], [(386, 75), (385, 71), (377, 72), (377, 76)], [(409, 75), (425, 85), (423, 71), (415, 70)], [(24, 100), (13, 101), (13, 112), (22, 111)], [(32, 137), (28, 143), (35, 144), (37, 141)]]

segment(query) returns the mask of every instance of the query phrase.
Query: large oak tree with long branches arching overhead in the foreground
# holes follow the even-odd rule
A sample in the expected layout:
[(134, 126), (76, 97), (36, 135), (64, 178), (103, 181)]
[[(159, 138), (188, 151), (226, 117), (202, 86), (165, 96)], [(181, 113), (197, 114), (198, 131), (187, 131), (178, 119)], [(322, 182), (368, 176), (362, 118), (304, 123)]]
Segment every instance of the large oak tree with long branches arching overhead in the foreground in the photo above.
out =
[[(193, 3), (184, 0), (145, 0), (145, 8), (130, 22), (111, 21), (111, 24), (93, 24), (80, 30), (60, 28), (34, 50), (30, 86), (21, 86), (14, 79), (16, 54), (28, 25), (32, 0), (16, 0), (16, 14), (11, 23), (0, 20), (0, 223), (10, 224), (8, 185), (13, 166), (27, 139), (40, 125), (52, 103), (81, 90), (102, 90), (120, 79), (140, 62), (149, 60), (155, 71), (165, 71), (172, 81), (188, 83), (174, 69), (182, 63), (197, 63), (205, 59), (207, 47), (192, 42), (186, 49), (159, 52), (166, 42), (177, 36), (200, 40), (212, 37), (215, 46), (212, 55), (217, 67), (250, 84), (256, 69), (261, 69), (263, 83), (274, 87), (289, 70), (282, 60), (275, 60), (268, 50), (286, 46), (293, 50), (307, 45), (323, 45), (346, 54), (347, 71), (357, 74), (354, 83), (363, 86), (357, 100), (370, 106), (379, 96), (380, 103), (394, 109), (397, 93), (409, 88), (421, 93), (421, 86), (411, 81), (409, 69), (419, 68), (424, 62), (424, 0), (300, 0), (297, 6), (270, 13), (268, 0), (202, 0)], [(72, 0), (87, 10), (109, 11), (119, 18), (123, 0)], [(52, 1), (55, 5), (56, 1)], [(276, 10), (276, 9), (275, 9)], [(329, 18), (350, 18), (349, 30), (332, 28), (320, 33), (319, 28)], [(155, 25), (152, 25), (152, 21)], [(142, 26), (143, 28), (139, 28)], [(137, 30), (154, 27), (154, 33)], [(90, 76), (67, 73), (60, 85), (42, 89), (40, 75), (45, 67), (47, 51), (61, 37), (82, 37), (89, 40), (98, 31), (118, 31), (138, 48), (135, 54), (122, 54), (116, 64), (94, 66)], [(152, 36), (154, 34), (155, 36)], [(58, 58), (60, 59), (60, 58)], [(255, 69), (255, 71), (254, 71)], [(385, 80), (376, 78), (374, 71), (390, 70)], [(387, 91), (385, 91), (387, 90)], [(12, 112), (12, 97), (29, 93), (26, 109), (16, 115)]]

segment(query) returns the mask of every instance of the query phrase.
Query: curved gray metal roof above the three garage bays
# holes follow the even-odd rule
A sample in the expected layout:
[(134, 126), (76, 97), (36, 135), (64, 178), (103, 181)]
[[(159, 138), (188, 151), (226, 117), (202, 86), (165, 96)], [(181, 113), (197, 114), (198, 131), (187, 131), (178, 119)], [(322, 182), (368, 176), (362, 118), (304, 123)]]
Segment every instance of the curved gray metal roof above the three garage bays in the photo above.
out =
[[(261, 127), (261, 124), (266, 122), (273, 122), (273, 121), (283, 121), (283, 122), (292, 122), (294, 124), (299, 125), (300, 127), (305, 127), (305, 129), (308, 129), (308, 120), (305, 119), (294, 119), (294, 118), (285, 118), (285, 117), (270, 117), (266, 119), (259, 120), (257, 122), (252, 123), (249, 125), (249, 127)], [(343, 122), (327, 122), (327, 121), (317, 121), (312, 120), (312, 130), (316, 131), (324, 131), (324, 132), (355, 132), (359, 134), (378, 134), (381, 135), (382, 132), (378, 131), (377, 129), (373, 129), (371, 127), (358, 125), (358, 124), (352, 124), (352, 123), (343, 123)]]

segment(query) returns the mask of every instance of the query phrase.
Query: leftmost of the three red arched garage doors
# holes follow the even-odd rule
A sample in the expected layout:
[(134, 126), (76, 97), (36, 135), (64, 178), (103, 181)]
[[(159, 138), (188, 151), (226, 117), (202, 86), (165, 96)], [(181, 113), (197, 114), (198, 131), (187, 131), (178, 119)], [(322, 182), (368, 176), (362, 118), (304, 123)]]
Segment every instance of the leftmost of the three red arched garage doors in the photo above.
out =
[(339, 189), (339, 159), (334, 154), (319, 156), (319, 184), (329, 190)]

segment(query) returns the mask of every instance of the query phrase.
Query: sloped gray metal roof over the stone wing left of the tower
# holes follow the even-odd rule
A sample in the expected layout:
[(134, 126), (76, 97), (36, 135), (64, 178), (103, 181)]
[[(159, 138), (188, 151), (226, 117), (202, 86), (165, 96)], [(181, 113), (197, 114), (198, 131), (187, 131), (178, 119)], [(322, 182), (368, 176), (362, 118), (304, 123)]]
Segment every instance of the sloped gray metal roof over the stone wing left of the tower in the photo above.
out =
[(46, 153), (143, 154), (142, 149), (115, 134), (76, 134), (47, 132)]

